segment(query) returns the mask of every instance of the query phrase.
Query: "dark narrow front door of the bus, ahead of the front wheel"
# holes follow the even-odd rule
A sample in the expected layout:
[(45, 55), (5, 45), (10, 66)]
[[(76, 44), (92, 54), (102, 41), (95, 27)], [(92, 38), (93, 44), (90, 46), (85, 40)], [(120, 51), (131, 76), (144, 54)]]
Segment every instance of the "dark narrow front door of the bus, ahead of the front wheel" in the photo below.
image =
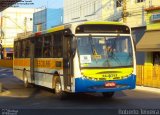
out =
[(71, 88), (71, 75), (73, 61), (71, 59), (71, 37), (63, 38), (63, 75), (64, 75), (64, 87), (67, 90), (68, 87)]

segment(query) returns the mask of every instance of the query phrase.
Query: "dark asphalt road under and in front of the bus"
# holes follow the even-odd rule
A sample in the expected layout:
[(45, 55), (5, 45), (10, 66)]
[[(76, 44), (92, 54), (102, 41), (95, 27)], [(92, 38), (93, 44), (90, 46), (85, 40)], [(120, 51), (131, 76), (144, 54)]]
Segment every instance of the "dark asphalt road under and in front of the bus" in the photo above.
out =
[[(19, 110), (23, 114), (30, 114), (27, 110), (31, 109), (31, 113), (39, 112), (43, 115), (58, 112), (82, 114), (82, 110), (92, 115), (100, 115), (100, 112), (105, 115), (125, 114), (124, 112), (142, 114), (143, 110), (146, 112), (148, 109), (160, 114), (160, 93), (135, 89), (117, 92), (112, 99), (104, 99), (101, 94), (70, 94), (67, 99), (59, 100), (50, 89), (39, 86), (24, 88), (23, 82), (13, 76), (11, 69), (6, 68), (0, 68), (0, 82), (4, 89), (0, 93), (2, 115), (6, 115), (4, 113), (8, 109), (12, 112)], [(129, 111), (123, 111), (126, 109)]]

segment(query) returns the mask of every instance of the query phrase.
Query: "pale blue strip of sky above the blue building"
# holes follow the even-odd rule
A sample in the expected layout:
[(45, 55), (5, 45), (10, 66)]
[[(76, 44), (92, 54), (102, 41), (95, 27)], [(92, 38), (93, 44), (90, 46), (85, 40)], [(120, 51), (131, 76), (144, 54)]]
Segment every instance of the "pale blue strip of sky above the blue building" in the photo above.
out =
[(62, 8), (63, 7), (63, 0), (22, 0), (24, 2), (20, 3), (33, 3), (33, 5), (22, 5), (18, 4), (19, 7), (27, 7), (27, 8)]

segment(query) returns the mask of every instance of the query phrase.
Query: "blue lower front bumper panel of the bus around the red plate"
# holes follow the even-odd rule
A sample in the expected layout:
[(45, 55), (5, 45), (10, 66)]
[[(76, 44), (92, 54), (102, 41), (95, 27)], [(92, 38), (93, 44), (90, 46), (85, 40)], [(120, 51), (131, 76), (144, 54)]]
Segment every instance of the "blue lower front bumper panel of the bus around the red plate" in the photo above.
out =
[[(106, 82), (115, 82), (116, 88), (105, 88)], [(75, 92), (116, 92), (126, 89), (134, 89), (136, 86), (136, 75), (130, 75), (126, 79), (115, 81), (94, 81), (85, 78), (75, 79)]]

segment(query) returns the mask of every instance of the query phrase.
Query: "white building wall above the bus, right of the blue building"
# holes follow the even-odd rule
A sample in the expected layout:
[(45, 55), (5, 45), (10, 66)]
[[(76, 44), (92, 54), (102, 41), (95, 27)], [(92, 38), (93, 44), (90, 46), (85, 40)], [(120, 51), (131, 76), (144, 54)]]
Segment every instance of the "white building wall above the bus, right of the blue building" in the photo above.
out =
[(100, 20), (102, 0), (64, 0), (64, 23)]

